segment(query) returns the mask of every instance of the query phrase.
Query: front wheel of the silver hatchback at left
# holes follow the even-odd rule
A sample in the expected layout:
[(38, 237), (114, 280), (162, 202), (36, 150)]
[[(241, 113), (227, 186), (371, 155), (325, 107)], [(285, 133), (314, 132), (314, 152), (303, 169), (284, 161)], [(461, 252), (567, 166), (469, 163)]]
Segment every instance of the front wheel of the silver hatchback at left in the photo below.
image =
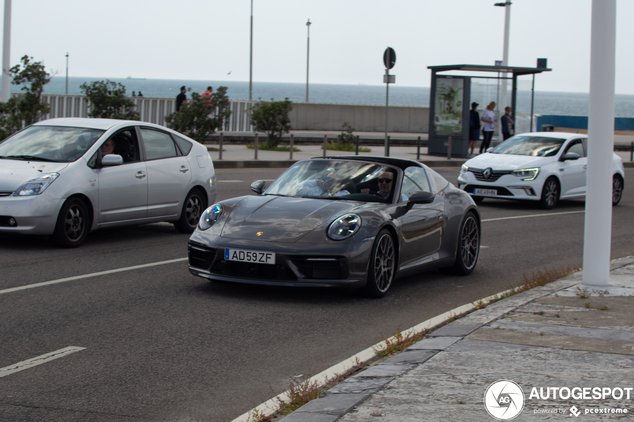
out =
[(88, 235), (88, 208), (79, 198), (68, 198), (57, 216), (53, 240), (61, 247), (78, 247)]

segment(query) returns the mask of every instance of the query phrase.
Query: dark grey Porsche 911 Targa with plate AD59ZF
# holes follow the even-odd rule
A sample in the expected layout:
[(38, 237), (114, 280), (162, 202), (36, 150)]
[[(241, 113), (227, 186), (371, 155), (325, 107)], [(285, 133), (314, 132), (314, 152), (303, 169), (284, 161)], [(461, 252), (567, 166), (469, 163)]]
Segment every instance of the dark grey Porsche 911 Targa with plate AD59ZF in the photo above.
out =
[(202, 214), (188, 245), (193, 275), (383, 297), (395, 278), (434, 268), (468, 275), (477, 263), (477, 206), (417, 161), (306, 159), (251, 190)]

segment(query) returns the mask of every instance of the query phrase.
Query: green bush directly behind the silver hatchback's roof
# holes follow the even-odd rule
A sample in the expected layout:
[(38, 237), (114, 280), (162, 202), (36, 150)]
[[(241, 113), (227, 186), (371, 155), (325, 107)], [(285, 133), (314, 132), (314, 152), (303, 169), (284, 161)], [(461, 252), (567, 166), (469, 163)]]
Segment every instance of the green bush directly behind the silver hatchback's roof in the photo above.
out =
[(141, 120), (134, 101), (126, 97), (126, 87), (111, 80), (96, 80), (81, 85), (90, 101), (88, 116), (102, 119)]

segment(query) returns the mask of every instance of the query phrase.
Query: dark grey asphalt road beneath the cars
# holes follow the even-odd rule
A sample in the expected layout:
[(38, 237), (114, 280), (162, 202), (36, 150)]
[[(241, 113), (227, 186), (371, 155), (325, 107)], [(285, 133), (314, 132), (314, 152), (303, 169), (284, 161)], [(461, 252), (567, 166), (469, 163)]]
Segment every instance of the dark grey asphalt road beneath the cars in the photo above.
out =
[[(438, 169), (455, 183), (457, 168)], [(218, 170), (219, 199), (249, 194), (278, 169)], [(230, 182), (233, 180), (233, 182)], [(613, 211), (612, 258), (634, 252), (634, 169)], [(482, 218), (543, 211), (486, 199)], [(581, 211), (562, 201), (554, 212)], [(0, 368), (86, 349), (0, 378), (1, 421), (230, 421), (314, 374), (522, 274), (578, 266), (583, 213), (482, 223), (474, 273), (397, 280), (384, 299), (351, 292), (209, 283), (185, 261), (0, 294)], [(0, 290), (186, 256), (161, 224), (91, 233), (79, 249), (0, 238)]]

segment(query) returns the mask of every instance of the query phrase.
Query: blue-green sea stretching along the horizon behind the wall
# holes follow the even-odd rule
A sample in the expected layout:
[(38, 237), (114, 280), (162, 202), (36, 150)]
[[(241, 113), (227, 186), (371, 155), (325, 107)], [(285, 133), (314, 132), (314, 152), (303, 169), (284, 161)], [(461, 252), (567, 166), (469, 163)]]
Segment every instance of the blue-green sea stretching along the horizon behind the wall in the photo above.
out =
[[(84, 82), (105, 80), (97, 77), (68, 77), (68, 94), (81, 95), (80, 86)], [(219, 86), (228, 87), (230, 99), (249, 99), (249, 82), (220, 81), (220, 80), (178, 80), (178, 79), (142, 79), (142, 78), (110, 78), (126, 87), (126, 93), (132, 95), (139, 92), (145, 97), (176, 97), (181, 86), (185, 85), (190, 92), (203, 92), (208, 86), (216, 89)], [(498, 82), (494, 79), (472, 80), (470, 101), (481, 104), (484, 108), (489, 101), (498, 101)], [(55, 76), (45, 85), (46, 94), (64, 94), (66, 79)], [(11, 92), (20, 92), (20, 87), (11, 85)], [(188, 94), (189, 97), (189, 94)], [(253, 82), (254, 100), (281, 100), (288, 98), (294, 102), (306, 101), (306, 84), (282, 82)], [(634, 117), (634, 96), (617, 94), (615, 99), (615, 115), (619, 117)], [(309, 102), (327, 102), (335, 104), (368, 104), (385, 105), (385, 85), (339, 85), (339, 84), (309, 84)], [(510, 89), (508, 100), (510, 104)], [(389, 105), (391, 106), (429, 106), (429, 87), (402, 87), (398, 84), (390, 85)], [(521, 81), (517, 90), (517, 111), (530, 113), (531, 90), (529, 81)], [(584, 92), (549, 92), (536, 90), (534, 92), (533, 113), (542, 115), (588, 115), (588, 93)]]

